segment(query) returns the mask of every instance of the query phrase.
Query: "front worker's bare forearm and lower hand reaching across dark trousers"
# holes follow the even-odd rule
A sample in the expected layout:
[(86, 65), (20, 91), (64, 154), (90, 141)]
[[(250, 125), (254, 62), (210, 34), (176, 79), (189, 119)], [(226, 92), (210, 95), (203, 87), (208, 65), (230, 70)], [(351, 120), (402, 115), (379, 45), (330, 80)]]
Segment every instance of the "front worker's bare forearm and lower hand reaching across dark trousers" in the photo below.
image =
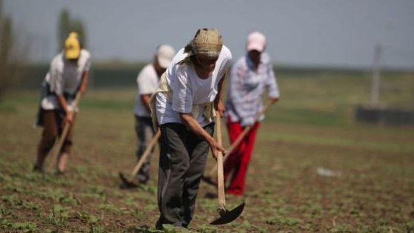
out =
[(201, 127), (201, 125), (192, 117), (191, 113), (180, 112), (180, 118), (184, 125), (195, 133), (195, 135), (198, 135), (207, 141), (211, 147), (211, 152), (214, 158), (217, 157), (217, 152), (219, 151), (225, 154), (225, 149), (220, 146), (219, 143), (217, 143), (214, 138), (203, 129), (203, 127)]

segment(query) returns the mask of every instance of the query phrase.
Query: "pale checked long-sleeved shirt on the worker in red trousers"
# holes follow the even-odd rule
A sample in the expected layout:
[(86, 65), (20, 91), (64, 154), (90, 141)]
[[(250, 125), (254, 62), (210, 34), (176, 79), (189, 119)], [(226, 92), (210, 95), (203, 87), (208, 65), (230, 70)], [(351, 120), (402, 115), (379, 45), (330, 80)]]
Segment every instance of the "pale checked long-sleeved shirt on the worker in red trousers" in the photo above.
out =
[[(265, 88), (269, 98), (279, 98), (279, 89), (270, 57), (260, 56), (257, 69), (249, 56), (243, 56), (233, 65), (230, 73), (226, 110), (231, 122), (255, 118), (262, 110), (262, 96)], [(260, 120), (263, 120), (261, 117)]]

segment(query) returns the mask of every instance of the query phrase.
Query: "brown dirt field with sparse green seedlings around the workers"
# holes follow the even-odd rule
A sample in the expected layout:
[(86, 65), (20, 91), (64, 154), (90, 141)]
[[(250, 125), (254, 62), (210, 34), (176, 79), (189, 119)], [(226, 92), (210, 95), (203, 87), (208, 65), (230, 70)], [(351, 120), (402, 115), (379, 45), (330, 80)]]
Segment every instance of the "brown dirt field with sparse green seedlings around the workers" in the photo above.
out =
[[(414, 106), (413, 78), (391, 78), (385, 104)], [(229, 208), (246, 202), (242, 216), (209, 225), (216, 199), (205, 197), (214, 189), (202, 183), (189, 230), (414, 232), (414, 128), (355, 123), (354, 107), (369, 96), (360, 81), (282, 77), (282, 99), (259, 128), (246, 195), (226, 197)], [(158, 232), (158, 156), (148, 185), (119, 189), (118, 172), (135, 162), (135, 89), (90, 90), (81, 100), (63, 176), (32, 172), (37, 98), (12, 91), (0, 102), (0, 231)]]

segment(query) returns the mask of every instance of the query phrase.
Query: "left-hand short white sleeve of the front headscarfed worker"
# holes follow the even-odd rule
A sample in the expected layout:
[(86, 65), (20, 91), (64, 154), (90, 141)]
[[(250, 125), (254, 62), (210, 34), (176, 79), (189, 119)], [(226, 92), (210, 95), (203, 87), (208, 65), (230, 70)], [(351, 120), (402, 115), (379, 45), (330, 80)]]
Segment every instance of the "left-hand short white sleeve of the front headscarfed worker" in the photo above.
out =
[(181, 113), (192, 111), (192, 90), (188, 78), (184, 74), (178, 74), (173, 82), (172, 109)]

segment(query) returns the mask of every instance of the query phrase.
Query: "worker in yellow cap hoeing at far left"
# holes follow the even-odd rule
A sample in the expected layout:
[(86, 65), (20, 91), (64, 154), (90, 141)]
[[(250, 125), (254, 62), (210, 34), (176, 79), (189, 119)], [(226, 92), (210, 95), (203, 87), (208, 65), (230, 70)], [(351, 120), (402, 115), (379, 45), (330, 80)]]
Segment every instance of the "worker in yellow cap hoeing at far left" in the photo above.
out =
[(48, 74), (42, 82), (39, 113), (36, 124), (43, 127), (37, 145), (37, 161), (34, 171), (43, 171), (43, 162), (56, 137), (62, 133), (65, 124), (70, 129), (57, 159), (57, 174), (66, 170), (68, 157), (73, 144), (73, 100), (78, 91), (84, 94), (91, 67), (91, 55), (81, 48), (76, 32), (69, 33), (64, 41), (63, 51), (53, 58)]

